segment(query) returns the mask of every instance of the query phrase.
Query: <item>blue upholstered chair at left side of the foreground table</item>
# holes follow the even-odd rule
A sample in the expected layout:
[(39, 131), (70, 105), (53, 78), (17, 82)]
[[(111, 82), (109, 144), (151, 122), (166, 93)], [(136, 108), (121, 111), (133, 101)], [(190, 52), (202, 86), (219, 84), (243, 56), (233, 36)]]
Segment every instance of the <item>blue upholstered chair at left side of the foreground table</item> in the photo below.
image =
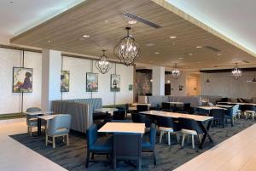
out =
[(88, 168), (89, 162), (96, 162), (90, 160), (94, 158), (94, 154), (108, 155), (113, 151), (113, 136), (98, 138), (96, 124), (93, 124), (86, 132), (87, 136), (87, 157), (85, 167)]

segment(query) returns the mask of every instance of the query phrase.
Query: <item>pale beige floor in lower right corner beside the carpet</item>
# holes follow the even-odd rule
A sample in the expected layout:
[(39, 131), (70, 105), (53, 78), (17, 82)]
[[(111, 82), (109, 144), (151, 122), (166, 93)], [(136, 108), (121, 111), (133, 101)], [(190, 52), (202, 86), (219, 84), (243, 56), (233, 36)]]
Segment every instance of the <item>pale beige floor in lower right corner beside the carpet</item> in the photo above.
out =
[(256, 124), (253, 124), (174, 171), (255, 171), (255, 132)]

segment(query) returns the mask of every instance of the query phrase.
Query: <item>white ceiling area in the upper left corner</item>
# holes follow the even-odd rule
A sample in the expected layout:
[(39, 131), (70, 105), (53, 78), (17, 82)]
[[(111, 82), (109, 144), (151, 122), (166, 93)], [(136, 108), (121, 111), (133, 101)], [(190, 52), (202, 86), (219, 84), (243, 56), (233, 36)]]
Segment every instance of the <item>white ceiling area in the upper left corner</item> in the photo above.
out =
[[(0, 42), (49, 20), (84, 0), (1, 0)], [(11, 3), (13, 2), (13, 3)]]

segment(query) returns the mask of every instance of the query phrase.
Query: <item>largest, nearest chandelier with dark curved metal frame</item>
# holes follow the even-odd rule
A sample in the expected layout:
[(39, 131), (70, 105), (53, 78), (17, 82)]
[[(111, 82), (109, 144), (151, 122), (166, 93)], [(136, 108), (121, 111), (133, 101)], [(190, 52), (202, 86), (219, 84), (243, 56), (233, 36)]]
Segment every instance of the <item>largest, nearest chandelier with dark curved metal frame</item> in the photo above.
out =
[(113, 54), (115, 54), (120, 62), (125, 66), (134, 65), (135, 60), (140, 53), (139, 45), (135, 42), (135, 39), (129, 34), (131, 27), (126, 27), (127, 36), (122, 38), (120, 42), (113, 48)]

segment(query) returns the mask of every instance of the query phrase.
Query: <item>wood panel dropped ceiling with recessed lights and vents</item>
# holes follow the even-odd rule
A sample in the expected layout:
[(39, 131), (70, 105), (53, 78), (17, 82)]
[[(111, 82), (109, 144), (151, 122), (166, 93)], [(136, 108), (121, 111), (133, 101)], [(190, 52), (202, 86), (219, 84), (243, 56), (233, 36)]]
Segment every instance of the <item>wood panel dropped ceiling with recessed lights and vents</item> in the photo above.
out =
[[(161, 28), (140, 22), (129, 25), (122, 15), (125, 12), (137, 14)], [(139, 63), (168, 67), (177, 63), (190, 69), (234, 66), (235, 62), (246, 65), (242, 60), (256, 64), (253, 54), (242, 50), (237, 43), (191, 23), (187, 15), (183, 19), (186, 17), (182, 18), (180, 13), (177, 9), (173, 12), (172, 5), (164, 0), (87, 0), (12, 38), (10, 43), (90, 56), (100, 56), (101, 50), (107, 49), (109, 58), (116, 59), (113, 47), (125, 36), (125, 26), (131, 26), (131, 35), (141, 47)], [(177, 38), (171, 39), (172, 36)], [(205, 46), (217, 48), (219, 52)]]

